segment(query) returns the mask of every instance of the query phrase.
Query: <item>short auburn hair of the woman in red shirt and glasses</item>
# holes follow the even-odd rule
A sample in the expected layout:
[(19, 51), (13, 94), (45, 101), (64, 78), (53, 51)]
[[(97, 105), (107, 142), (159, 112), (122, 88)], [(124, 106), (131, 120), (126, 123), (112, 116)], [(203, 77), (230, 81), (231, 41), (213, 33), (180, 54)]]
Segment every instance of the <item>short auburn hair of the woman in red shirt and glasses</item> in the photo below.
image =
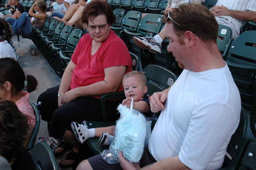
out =
[(116, 17), (109, 4), (106, 1), (95, 0), (86, 5), (83, 11), (82, 23), (88, 24), (88, 20), (92, 21), (100, 15), (106, 15), (108, 25), (112, 25), (116, 21)]

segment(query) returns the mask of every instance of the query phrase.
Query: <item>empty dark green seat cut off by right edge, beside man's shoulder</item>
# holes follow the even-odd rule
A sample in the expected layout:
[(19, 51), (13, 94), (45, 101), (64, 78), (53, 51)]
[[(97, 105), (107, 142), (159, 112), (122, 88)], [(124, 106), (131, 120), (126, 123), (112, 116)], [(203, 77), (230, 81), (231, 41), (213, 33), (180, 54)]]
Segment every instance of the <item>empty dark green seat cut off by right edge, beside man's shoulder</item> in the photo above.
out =
[(256, 40), (253, 38), (255, 36), (255, 30), (242, 33), (232, 41), (226, 58), (226, 63), (239, 89), (242, 106), (248, 111), (251, 111), (256, 73), (256, 57), (254, 55), (256, 47), (252, 46), (256, 44)]

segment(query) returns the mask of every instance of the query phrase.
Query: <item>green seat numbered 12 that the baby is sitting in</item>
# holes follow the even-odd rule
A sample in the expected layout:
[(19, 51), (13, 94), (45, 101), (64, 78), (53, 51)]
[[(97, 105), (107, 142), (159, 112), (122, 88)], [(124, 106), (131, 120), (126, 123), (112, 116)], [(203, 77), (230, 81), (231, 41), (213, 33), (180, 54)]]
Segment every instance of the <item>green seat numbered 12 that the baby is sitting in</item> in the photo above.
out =
[[(145, 67), (145, 69), (143, 69), (143, 72), (145, 72), (145, 76), (147, 78), (147, 86), (148, 86), (147, 94), (149, 95), (152, 95), (154, 92), (159, 92), (159, 91), (163, 91), (164, 89), (167, 89), (171, 85), (171, 83), (177, 80), (177, 76), (174, 73), (156, 65), (149, 65)], [(102, 95), (100, 99), (101, 104), (104, 104), (106, 100), (104, 99), (105, 96), (108, 96), (107, 99), (112, 99), (112, 98), (122, 97), (124, 95), (124, 94), (118, 94), (118, 93), (116, 93), (113, 97), (111, 96), (111, 94)], [(103, 110), (103, 105), (102, 105), (102, 110)], [(103, 117), (104, 117), (103, 122), (88, 121), (86, 125), (88, 126), (88, 128), (97, 128), (97, 127), (112, 126), (116, 124), (115, 122), (107, 122), (105, 112), (103, 112)], [(89, 138), (86, 140), (88, 147), (96, 155), (102, 152), (103, 150), (109, 148), (109, 146), (104, 146), (99, 144), (98, 141), (99, 141), (98, 137)]]

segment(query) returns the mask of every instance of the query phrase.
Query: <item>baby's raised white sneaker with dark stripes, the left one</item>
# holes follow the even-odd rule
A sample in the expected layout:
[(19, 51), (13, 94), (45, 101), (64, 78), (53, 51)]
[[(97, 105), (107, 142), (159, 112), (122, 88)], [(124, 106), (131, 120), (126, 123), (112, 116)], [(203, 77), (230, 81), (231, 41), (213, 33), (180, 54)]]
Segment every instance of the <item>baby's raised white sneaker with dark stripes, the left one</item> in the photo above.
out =
[(84, 121), (85, 125), (80, 125), (77, 122), (71, 123), (72, 131), (75, 134), (76, 139), (82, 144), (89, 138), (89, 130), (88, 126), (86, 126), (86, 121)]

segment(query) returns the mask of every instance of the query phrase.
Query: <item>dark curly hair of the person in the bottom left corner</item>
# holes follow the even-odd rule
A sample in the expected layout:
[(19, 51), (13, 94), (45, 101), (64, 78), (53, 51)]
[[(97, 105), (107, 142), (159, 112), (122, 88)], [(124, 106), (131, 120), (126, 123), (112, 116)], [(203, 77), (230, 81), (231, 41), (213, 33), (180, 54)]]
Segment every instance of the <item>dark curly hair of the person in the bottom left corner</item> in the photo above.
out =
[(19, 111), (13, 101), (0, 102), (0, 155), (9, 162), (23, 148), (28, 127), (27, 116)]

